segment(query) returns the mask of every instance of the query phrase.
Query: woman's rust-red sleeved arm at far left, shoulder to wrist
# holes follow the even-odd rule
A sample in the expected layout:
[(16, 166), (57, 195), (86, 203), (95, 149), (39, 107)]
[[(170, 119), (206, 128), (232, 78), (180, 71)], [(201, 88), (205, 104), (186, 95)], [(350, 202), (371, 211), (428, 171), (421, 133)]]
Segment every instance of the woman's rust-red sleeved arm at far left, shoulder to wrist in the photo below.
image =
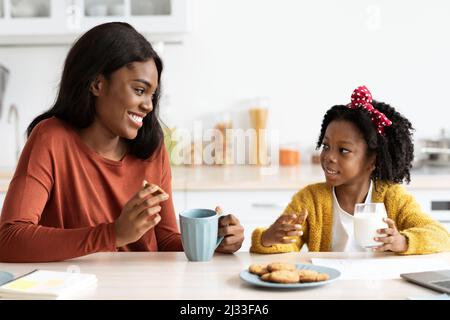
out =
[[(115, 251), (114, 224), (63, 229), (45, 226), (41, 215), (55, 197), (54, 173), (63, 131), (39, 123), (20, 155), (0, 215), (0, 261), (60, 261), (99, 251)], [(70, 197), (71, 190), (65, 196)], [(46, 213), (47, 214), (47, 213)], [(45, 218), (45, 217), (44, 217)], [(55, 217), (54, 219), (58, 219)], [(57, 221), (64, 225), (64, 221)]]

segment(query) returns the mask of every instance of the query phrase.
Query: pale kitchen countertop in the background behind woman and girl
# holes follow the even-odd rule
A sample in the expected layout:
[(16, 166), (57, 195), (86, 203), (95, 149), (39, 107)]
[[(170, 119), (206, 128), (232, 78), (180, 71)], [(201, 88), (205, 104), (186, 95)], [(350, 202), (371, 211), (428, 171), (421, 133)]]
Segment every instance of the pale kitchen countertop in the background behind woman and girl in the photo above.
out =
[[(0, 192), (6, 192), (12, 170), (0, 170)], [(319, 165), (265, 168), (258, 166), (174, 166), (174, 191), (298, 190), (324, 181)], [(450, 189), (448, 168), (419, 168), (411, 172), (408, 189)]]

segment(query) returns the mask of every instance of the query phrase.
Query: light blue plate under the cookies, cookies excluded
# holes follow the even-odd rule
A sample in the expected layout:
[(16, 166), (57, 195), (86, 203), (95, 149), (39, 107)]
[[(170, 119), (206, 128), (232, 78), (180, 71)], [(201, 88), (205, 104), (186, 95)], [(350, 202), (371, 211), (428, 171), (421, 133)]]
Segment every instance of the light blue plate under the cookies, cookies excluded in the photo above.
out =
[(274, 282), (267, 282), (262, 281), (258, 275), (250, 273), (248, 270), (242, 271), (239, 276), (242, 280), (245, 282), (248, 282), (250, 284), (261, 286), (261, 287), (270, 287), (270, 288), (283, 288), (283, 289), (291, 289), (291, 288), (309, 288), (309, 287), (317, 287), (322, 286), (324, 284), (328, 284), (330, 282), (333, 282), (337, 278), (341, 276), (341, 273), (333, 268), (328, 267), (322, 267), (322, 266), (316, 266), (312, 264), (302, 264), (298, 263), (296, 264), (297, 270), (314, 270), (320, 273), (326, 273), (330, 277), (326, 281), (318, 281), (318, 282), (305, 282), (305, 283), (274, 283)]

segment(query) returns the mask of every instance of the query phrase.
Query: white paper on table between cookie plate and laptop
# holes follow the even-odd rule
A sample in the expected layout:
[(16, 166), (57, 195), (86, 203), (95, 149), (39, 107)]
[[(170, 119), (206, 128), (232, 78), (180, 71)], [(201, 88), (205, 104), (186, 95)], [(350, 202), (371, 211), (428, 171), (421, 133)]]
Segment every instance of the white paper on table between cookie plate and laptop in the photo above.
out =
[(450, 265), (438, 259), (415, 259), (407, 257), (381, 259), (320, 259), (312, 263), (337, 269), (342, 280), (399, 279), (401, 273), (450, 269)]

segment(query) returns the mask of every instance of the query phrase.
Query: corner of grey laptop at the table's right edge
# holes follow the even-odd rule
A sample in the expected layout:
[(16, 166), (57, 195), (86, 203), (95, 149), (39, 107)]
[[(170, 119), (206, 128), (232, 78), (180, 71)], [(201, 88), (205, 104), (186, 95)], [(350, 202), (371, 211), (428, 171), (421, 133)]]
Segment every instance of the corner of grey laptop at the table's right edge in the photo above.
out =
[(402, 273), (400, 277), (420, 286), (450, 294), (450, 270)]

